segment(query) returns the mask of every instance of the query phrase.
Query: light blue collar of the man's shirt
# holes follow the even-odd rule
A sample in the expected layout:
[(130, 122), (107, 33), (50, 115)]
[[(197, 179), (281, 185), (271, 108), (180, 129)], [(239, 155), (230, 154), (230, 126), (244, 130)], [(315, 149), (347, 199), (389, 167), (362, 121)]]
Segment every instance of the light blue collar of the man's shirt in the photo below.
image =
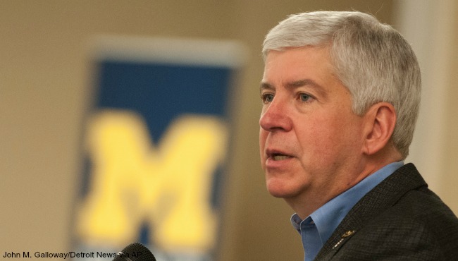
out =
[[(310, 214), (311, 221), (316, 224), (318, 233), (320, 236), (321, 243), (324, 245), (328, 238), (332, 235), (335, 229), (338, 227), (342, 219), (347, 213), (366, 195), (370, 190), (375, 188), (385, 178), (390, 176), (393, 172), (399, 169), (404, 162), (394, 162), (384, 166), (382, 169), (374, 172), (370, 176), (364, 178), (357, 185), (349, 188), (349, 190), (333, 198), (325, 205), (321, 206)], [(307, 217), (305, 220), (307, 220)], [(293, 214), (291, 217), (291, 224), (294, 228), (301, 231), (302, 219), (297, 214)]]

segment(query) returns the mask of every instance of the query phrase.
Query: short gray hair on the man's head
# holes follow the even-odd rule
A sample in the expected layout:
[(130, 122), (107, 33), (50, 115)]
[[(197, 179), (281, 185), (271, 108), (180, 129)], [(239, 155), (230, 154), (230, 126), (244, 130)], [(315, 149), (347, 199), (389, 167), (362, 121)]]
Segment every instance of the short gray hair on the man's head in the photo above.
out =
[(404, 37), (366, 13), (298, 13), (268, 32), (264, 59), (270, 50), (305, 46), (329, 47), (334, 73), (351, 93), (355, 114), (363, 115), (378, 102), (395, 107), (391, 140), (405, 159), (419, 114), (421, 75)]

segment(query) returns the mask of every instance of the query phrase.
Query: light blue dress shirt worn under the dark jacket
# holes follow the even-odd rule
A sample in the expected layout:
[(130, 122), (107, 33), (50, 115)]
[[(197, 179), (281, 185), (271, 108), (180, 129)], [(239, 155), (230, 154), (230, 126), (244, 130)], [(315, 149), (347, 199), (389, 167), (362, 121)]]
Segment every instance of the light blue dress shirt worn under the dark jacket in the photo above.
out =
[(375, 173), (357, 183), (349, 190), (333, 198), (325, 205), (302, 220), (297, 214), (291, 217), (292, 226), (297, 229), (304, 247), (304, 261), (314, 260), (324, 243), (337, 229), (338, 225), (357, 204), (361, 198), (375, 188), (385, 178), (404, 165), (404, 162), (394, 162), (384, 166)]

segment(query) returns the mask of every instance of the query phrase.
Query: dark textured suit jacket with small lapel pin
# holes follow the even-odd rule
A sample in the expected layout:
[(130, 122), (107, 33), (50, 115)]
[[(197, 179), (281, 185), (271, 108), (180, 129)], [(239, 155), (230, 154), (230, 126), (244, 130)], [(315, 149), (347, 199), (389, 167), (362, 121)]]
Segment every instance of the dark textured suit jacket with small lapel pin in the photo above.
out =
[(354, 205), (315, 260), (458, 260), (458, 219), (406, 164)]

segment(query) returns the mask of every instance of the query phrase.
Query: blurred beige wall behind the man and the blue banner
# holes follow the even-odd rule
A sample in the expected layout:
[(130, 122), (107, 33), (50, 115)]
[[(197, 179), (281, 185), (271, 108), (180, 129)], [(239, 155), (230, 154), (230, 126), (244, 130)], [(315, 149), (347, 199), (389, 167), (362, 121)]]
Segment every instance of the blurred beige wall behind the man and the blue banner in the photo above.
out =
[(0, 1), (0, 251), (71, 248), (81, 131), (92, 102), (96, 35), (239, 40), (249, 57), (233, 94), (219, 260), (301, 260), (292, 210), (259, 166), (260, 56), (288, 14), (358, 10), (401, 30), (423, 69), (421, 119), (409, 161), (458, 213), (458, 6), (444, 1)]

